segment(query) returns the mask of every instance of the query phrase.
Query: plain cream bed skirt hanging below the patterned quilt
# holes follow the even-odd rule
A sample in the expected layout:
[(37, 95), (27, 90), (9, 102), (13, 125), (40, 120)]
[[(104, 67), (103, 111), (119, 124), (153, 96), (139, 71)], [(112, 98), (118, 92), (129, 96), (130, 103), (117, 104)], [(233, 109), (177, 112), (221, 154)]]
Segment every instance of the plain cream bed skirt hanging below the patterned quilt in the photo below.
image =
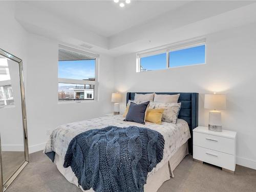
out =
[[(188, 144), (184, 143), (179, 150), (169, 159), (169, 162), (164, 164), (156, 173), (147, 177), (147, 183), (144, 185), (144, 192), (157, 192), (161, 185), (174, 177), (173, 170), (179, 165), (179, 163), (188, 155)], [(64, 168), (64, 159), (55, 154), (54, 163), (56, 164), (59, 172), (70, 182), (78, 186), (78, 181), (73, 173), (71, 167)], [(78, 186), (79, 187), (79, 186)], [(89, 190), (83, 190), (85, 192), (94, 192), (91, 188)]]

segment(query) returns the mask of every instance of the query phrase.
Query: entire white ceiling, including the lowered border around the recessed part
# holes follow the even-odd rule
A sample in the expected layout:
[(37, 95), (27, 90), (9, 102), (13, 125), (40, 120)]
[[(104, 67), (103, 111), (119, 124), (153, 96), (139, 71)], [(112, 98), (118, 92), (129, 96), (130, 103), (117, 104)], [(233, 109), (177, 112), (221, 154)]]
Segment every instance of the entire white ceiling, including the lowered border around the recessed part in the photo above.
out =
[(30, 33), (114, 57), (256, 23), (256, 1), (17, 1)]

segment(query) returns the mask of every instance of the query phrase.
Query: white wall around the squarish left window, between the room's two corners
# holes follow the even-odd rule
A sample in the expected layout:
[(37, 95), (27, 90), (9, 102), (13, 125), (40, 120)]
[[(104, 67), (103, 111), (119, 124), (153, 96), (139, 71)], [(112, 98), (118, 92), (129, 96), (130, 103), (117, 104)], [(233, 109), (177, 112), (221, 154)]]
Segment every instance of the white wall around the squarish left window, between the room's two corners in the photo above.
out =
[(26, 102), (30, 153), (45, 146), (48, 130), (111, 112), (113, 59), (100, 55), (98, 67), (98, 100), (58, 103), (58, 42), (28, 35)]

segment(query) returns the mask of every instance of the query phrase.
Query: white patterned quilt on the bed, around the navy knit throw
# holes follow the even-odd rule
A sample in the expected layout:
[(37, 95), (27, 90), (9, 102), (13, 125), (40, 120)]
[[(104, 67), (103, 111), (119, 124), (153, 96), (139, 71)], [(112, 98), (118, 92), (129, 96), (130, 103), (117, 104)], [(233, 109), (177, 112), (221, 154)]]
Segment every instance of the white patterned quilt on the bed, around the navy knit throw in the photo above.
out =
[(188, 124), (182, 119), (178, 119), (177, 124), (162, 122), (162, 124), (159, 125), (156, 123), (146, 122), (143, 125), (135, 122), (123, 121), (123, 117), (121, 115), (105, 116), (58, 126), (52, 132), (50, 139), (46, 144), (45, 153), (53, 151), (58, 154), (58, 156), (65, 158), (69, 143), (76, 135), (84, 131), (101, 129), (110, 125), (119, 127), (127, 127), (131, 125), (147, 127), (148, 129), (158, 131), (163, 135), (165, 140), (163, 159), (157, 164), (152, 172), (148, 174), (148, 176), (154, 174), (159, 168), (166, 164), (175, 152), (179, 150), (181, 145), (190, 138)]

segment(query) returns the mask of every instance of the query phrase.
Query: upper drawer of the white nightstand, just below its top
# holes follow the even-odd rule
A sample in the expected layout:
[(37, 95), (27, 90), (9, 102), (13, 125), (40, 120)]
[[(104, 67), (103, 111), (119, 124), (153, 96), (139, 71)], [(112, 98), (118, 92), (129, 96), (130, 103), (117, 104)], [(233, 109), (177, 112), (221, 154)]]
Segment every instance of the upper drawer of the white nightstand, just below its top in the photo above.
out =
[(193, 132), (193, 144), (210, 150), (235, 155), (235, 140), (225, 137)]

